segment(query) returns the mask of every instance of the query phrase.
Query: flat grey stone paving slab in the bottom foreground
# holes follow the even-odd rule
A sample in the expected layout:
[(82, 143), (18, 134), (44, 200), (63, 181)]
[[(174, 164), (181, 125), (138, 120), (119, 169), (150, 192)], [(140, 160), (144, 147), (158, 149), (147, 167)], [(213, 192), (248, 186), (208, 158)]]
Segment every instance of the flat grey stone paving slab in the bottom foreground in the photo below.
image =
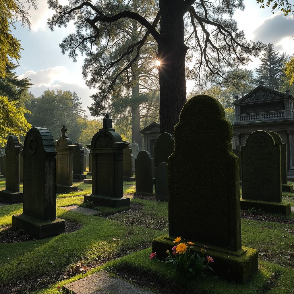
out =
[(154, 294), (105, 271), (64, 285), (73, 294)]

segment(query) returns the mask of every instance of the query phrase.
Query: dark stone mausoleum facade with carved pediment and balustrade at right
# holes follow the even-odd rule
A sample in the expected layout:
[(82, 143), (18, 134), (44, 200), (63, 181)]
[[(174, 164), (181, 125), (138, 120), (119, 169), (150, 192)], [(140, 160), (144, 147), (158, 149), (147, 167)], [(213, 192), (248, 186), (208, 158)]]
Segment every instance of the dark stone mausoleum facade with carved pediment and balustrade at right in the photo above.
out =
[(235, 102), (233, 148), (245, 145), (253, 131), (273, 131), (287, 144), (288, 179), (294, 179), (294, 98), (285, 93), (259, 86)]

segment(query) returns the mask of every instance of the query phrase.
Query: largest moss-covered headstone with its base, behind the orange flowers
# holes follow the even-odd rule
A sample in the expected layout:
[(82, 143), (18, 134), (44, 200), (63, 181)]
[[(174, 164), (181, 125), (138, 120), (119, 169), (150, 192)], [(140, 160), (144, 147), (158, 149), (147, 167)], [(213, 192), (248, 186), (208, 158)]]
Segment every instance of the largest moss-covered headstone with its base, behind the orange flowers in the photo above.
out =
[(241, 245), (239, 160), (232, 136), (216, 99), (198, 95), (184, 105), (168, 158), (168, 235), (154, 239), (152, 247), (165, 257), (181, 236), (195, 243), (196, 252), (205, 248), (213, 257), (213, 275), (243, 283), (258, 269), (258, 252)]

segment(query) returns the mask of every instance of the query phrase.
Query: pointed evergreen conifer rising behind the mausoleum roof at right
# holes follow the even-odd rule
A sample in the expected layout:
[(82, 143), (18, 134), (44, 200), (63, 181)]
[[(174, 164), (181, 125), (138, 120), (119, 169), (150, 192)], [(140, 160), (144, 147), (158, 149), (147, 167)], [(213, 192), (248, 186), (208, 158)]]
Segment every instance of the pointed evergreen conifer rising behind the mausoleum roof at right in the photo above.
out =
[(278, 90), (283, 84), (282, 75), (284, 71), (285, 53), (274, 50), (273, 44), (268, 44), (265, 53), (260, 58), (260, 66), (255, 68), (257, 81), (273, 90)]

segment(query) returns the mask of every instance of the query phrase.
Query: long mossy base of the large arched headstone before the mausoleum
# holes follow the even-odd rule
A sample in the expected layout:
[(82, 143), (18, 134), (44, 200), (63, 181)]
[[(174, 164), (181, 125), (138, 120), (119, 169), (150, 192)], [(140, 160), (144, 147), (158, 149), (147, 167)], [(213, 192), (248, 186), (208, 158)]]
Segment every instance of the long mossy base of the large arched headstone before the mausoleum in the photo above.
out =
[(258, 211), (267, 211), (273, 213), (281, 213), (288, 216), (291, 213), (291, 206), (289, 202), (268, 202), (268, 201), (258, 201), (258, 200), (248, 200), (240, 199), (241, 209), (253, 208)]

